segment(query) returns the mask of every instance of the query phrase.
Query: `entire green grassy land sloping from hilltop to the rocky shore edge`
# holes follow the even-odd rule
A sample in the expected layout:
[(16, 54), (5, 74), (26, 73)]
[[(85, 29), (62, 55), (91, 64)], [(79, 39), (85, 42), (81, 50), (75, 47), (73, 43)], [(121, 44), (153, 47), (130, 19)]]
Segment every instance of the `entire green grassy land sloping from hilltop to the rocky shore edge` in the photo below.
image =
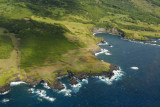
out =
[(91, 29), (160, 37), (158, 10), (158, 0), (1, 0), (0, 62), (9, 66), (0, 65), (0, 86), (15, 74), (53, 81), (59, 70), (108, 71), (93, 55), (101, 39)]

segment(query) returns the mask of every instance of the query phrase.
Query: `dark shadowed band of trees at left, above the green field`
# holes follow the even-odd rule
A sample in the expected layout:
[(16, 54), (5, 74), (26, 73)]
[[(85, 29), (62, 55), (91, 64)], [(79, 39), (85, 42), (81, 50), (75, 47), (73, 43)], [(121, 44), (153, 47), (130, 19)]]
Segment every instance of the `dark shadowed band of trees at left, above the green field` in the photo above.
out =
[[(1, 17), (0, 18), (0, 26), (9, 30), (11, 33), (17, 34), (16, 36), (22, 38), (23, 32), (39, 32), (39, 33), (50, 33), (50, 36), (59, 36), (59, 34), (63, 34), (65, 32), (69, 32), (68, 29), (64, 28), (64, 26), (60, 24), (46, 24), (41, 22), (33, 21), (29, 18), (25, 18), (22, 20), (10, 20)], [(38, 36), (38, 35), (37, 35)]]

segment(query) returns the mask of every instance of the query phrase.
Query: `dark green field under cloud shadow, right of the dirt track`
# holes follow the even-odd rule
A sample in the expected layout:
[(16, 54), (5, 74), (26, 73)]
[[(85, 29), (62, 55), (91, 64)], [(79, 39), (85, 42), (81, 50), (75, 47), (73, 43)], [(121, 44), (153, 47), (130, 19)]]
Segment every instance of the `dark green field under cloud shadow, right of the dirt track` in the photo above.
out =
[[(67, 40), (69, 32), (60, 24), (45, 24), (33, 20), (3, 20), (1, 26), (8, 28), (20, 39), (22, 68), (40, 66), (47, 61), (53, 63), (61, 59), (68, 50), (77, 49), (78, 43)], [(5, 41), (4, 41), (5, 42)], [(5, 45), (6, 46), (6, 45)]]

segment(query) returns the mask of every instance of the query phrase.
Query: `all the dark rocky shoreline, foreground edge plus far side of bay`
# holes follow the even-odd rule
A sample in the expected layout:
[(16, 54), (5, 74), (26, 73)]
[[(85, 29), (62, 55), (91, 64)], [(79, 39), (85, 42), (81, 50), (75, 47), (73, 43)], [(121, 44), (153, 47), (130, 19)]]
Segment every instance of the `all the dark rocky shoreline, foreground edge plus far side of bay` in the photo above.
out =
[[(94, 33), (117, 34), (115, 32), (104, 31), (104, 29), (94, 31)], [(121, 34), (121, 33), (118, 33), (118, 34)], [(122, 34), (120, 36), (122, 36)], [(131, 40), (131, 39), (127, 39), (127, 40)], [(149, 42), (145, 42), (145, 41), (139, 41), (139, 40), (132, 39), (132, 41), (160, 45), (160, 43), (155, 43), (155, 42), (153, 43), (152, 40), (150, 40)], [(104, 41), (101, 40), (100, 42), (103, 43)], [(100, 51), (101, 51), (100, 48), (98, 48), (93, 53), (97, 53), (97, 52), (100, 52)], [(69, 84), (70, 85), (76, 85), (76, 84), (78, 84), (79, 81), (83, 81), (83, 79), (86, 79), (88, 77), (105, 76), (107, 78), (111, 78), (114, 75), (114, 73), (113, 73), (114, 70), (120, 70), (120, 69), (119, 69), (118, 66), (110, 65), (110, 70), (109, 71), (102, 71), (101, 73), (93, 73), (92, 71), (90, 71), (89, 73), (88, 72), (86, 73), (85, 71), (73, 73), (71, 70), (68, 70), (66, 74), (60, 74), (61, 71), (57, 71), (57, 75), (56, 75), (57, 80), (55, 80), (54, 82), (49, 82), (49, 81), (44, 80), (44, 79), (39, 80), (39, 79), (36, 79), (36, 78), (31, 78), (31, 77), (27, 77), (26, 79), (23, 79), (23, 80), (21, 80), (19, 77), (17, 77), (14, 80), (12, 80), (11, 82), (22, 81), (22, 82), (25, 82), (27, 85), (30, 85), (30, 86), (36, 86), (36, 85), (40, 84), (41, 82), (44, 82), (44, 83), (47, 83), (48, 86), (51, 89), (61, 91), (61, 90), (65, 89), (65, 86), (58, 80), (58, 78), (69, 77)], [(28, 81), (28, 80), (30, 80), (30, 81)], [(10, 83), (8, 83), (8, 84), (0, 87), (0, 94), (5, 94), (6, 92), (8, 92), (10, 90), (11, 90), (11, 86), (10, 86)]]

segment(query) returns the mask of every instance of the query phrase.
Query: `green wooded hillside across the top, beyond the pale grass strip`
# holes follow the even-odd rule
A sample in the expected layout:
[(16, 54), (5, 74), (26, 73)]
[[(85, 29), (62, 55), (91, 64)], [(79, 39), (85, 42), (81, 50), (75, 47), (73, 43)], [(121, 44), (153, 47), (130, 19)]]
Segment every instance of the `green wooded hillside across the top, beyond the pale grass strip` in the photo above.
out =
[(2, 0), (0, 13), (13, 19), (34, 15), (117, 28), (130, 36), (138, 31), (140, 36), (148, 36), (149, 32), (152, 37), (159, 37), (158, 6), (158, 0)]

